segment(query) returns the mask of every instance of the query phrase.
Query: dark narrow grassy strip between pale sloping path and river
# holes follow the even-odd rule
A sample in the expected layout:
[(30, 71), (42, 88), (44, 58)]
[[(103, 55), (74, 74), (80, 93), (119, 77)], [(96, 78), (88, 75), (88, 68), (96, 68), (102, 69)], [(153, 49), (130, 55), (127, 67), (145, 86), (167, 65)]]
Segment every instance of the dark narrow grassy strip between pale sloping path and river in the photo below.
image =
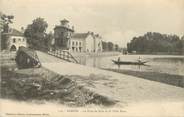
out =
[(105, 70), (118, 72), (126, 75), (132, 75), (138, 78), (166, 83), (166, 84), (174, 85), (178, 87), (184, 87), (184, 76), (182, 75), (173, 75), (173, 74), (158, 73), (158, 72), (131, 71), (131, 70), (121, 70), (121, 69), (105, 69)]

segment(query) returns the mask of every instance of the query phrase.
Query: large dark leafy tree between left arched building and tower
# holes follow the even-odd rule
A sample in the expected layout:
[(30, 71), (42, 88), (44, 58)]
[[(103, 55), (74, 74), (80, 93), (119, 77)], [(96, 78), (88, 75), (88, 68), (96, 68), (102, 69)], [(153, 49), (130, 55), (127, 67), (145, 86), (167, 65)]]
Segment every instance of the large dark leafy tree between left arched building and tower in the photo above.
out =
[(29, 24), (25, 29), (24, 35), (28, 39), (30, 48), (33, 49), (47, 49), (45, 44), (46, 29), (48, 24), (43, 18), (36, 18), (32, 24)]

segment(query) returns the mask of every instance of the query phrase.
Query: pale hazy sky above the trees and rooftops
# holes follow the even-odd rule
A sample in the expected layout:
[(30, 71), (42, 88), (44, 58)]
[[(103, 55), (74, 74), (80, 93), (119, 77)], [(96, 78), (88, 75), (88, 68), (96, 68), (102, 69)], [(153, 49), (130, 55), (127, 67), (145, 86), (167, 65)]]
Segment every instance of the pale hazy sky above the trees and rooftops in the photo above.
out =
[(146, 32), (184, 35), (184, 0), (0, 0), (0, 11), (15, 16), (16, 29), (42, 17), (53, 32), (65, 18), (75, 32), (92, 31), (121, 47)]

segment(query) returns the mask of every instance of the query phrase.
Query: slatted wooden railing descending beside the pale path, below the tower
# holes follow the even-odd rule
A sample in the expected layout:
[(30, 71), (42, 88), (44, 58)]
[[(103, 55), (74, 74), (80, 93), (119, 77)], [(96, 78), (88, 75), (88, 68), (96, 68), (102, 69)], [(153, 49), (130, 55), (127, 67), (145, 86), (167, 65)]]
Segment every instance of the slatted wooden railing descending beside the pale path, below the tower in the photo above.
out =
[(53, 55), (55, 57), (58, 57), (60, 59), (69, 61), (69, 62), (73, 62), (73, 63), (79, 63), (75, 57), (73, 57), (73, 55), (68, 52), (67, 50), (55, 50), (55, 51), (48, 51), (48, 54)]

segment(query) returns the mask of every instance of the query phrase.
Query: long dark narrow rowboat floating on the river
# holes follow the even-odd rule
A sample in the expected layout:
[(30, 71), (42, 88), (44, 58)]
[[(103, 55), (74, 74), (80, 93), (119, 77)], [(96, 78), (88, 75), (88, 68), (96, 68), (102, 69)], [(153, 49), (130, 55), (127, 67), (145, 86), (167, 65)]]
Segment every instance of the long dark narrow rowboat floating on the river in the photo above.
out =
[(117, 65), (145, 65), (148, 61), (117, 61), (117, 60), (112, 60), (114, 64)]

